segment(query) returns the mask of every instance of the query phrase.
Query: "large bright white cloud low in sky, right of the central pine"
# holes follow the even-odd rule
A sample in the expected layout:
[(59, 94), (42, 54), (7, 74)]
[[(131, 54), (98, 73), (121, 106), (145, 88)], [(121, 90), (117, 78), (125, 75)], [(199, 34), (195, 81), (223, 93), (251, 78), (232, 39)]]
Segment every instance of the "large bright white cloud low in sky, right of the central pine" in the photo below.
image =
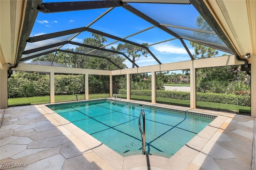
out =
[(168, 43), (158, 44), (152, 46), (157, 51), (165, 52), (165, 53), (174, 53), (174, 54), (187, 54), (187, 51), (184, 47), (177, 47), (174, 45), (170, 45)]

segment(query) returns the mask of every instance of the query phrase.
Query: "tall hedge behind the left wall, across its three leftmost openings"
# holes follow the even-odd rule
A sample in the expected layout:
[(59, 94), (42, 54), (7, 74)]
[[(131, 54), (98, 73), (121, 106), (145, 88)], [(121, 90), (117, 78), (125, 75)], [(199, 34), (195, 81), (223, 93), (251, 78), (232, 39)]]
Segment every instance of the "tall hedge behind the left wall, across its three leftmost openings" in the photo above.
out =
[[(108, 77), (89, 76), (89, 94), (108, 93)], [(84, 75), (55, 75), (55, 95), (84, 94)], [(48, 74), (18, 71), (8, 79), (8, 98), (39, 97), (50, 95)]]

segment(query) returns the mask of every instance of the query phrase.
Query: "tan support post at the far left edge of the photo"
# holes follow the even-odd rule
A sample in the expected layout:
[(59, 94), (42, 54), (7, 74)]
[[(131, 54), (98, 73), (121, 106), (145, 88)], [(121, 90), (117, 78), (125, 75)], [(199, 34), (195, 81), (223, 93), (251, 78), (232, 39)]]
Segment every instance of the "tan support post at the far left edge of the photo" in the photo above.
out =
[(8, 68), (0, 69), (0, 109), (8, 107)]

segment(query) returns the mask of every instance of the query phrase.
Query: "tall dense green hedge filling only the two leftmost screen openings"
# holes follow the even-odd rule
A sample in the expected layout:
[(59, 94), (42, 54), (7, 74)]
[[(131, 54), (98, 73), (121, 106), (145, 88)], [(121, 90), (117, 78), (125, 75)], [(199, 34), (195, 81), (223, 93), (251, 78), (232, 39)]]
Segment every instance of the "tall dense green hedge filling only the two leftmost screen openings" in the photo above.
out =
[[(55, 75), (55, 94), (74, 95), (84, 93), (83, 75)], [(8, 79), (8, 98), (50, 95), (50, 76), (19, 72)]]

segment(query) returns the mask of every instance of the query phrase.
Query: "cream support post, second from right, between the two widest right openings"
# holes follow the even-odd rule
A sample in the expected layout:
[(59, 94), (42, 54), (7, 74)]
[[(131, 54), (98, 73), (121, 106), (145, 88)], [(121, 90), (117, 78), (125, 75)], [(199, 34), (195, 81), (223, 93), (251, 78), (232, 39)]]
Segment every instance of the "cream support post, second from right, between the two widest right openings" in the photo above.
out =
[(196, 109), (196, 69), (194, 61), (190, 67), (190, 109)]

